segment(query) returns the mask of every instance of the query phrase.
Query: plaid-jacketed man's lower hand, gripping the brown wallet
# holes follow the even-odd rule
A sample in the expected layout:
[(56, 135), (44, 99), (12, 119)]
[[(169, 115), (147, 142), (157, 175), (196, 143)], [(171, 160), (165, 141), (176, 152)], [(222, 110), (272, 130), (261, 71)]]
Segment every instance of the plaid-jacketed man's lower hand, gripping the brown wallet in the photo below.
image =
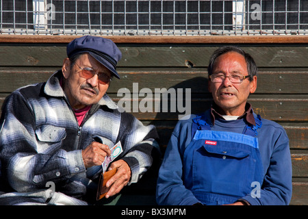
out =
[(122, 190), (123, 187), (129, 183), (129, 179), (131, 179), (131, 168), (129, 168), (127, 162), (123, 159), (113, 162), (108, 170), (112, 170), (114, 168), (118, 168), (118, 170), (116, 171), (116, 174), (106, 183), (106, 187), (110, 187), (110, 190), (105, 196), (106, 198), (118, 194), (118, 192), (120, 192), (120, 190)]

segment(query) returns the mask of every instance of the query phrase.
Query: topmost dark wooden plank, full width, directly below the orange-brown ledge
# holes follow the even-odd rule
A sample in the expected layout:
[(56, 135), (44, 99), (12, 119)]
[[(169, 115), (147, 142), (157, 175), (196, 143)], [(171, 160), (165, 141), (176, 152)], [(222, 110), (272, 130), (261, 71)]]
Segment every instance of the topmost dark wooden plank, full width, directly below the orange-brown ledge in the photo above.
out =
[[(123, 57), (118, 67), (183, 67), (203, 68), (217, 45), (122, 45), (118, 47)], [(262, 48), (262, 49), (260, 49)], [(242, 45), (253, 55), (258, 67), (306, 67), (307, 46)], [(66, 44), (0, 45), (0, 66), (61, 66), (66, 57)]]

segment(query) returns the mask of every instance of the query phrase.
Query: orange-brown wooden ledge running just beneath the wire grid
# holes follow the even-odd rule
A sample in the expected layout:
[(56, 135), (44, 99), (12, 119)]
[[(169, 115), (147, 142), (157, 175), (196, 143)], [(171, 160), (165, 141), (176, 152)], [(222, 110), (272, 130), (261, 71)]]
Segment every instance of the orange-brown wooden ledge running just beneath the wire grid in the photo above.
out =
[[(81, 36), (71, 36), (71, 35), (58, 35), (58, 36), (47, 36), (47, 35), (0, 35), (1, 42), (11, 42), (11, 43), (68, 43), (75, 38)], [(281, 44), (281, 43), (308, 43), (307, 36), (297, 35), (297, 36), (102, 36), (104, 38), (109, 38), (116, 43), (155, 43), (155, 44), (166, 44), (166, 43), (194, 43), (194, 44), (213, 44), (213, 43), (228, 43), (228, 44), (238, 44), (238, 43), (266, 43), (266, 44)]]

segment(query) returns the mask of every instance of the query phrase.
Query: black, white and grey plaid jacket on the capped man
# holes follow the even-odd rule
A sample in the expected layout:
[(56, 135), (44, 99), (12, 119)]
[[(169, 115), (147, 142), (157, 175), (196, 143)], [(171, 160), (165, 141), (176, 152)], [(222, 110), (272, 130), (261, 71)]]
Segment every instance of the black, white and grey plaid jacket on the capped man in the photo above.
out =
[[(112, 147), (120, 141), (123, 159), (136, 183), (153, 162), (158, 149), (157, 132), (131, 114), (119, 112), (107, 94), (79, 127), (75, 114), (60, 86), (61, 71), (47, 83), (38, 83), (12, 92), (3, 105), (0, 124), (1, 174), (17, 192), (46, 189), (83, 198), (96, 189), (101, 166), (84, 167), (81, 150), (94, 140)], [(155, 159), (155, 158), (154, 158)]]

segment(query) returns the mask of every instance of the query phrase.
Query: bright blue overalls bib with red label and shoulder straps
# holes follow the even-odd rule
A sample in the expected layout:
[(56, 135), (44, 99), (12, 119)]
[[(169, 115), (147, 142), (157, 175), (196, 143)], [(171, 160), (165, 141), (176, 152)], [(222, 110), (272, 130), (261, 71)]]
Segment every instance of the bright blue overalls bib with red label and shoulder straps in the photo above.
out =
[(184, 185), (205, 205), (234, 203), (263, 182), (255, 137), (261, 118), (258, 115), (256, 126), (246, 125), (243, 133), (211, 131), (205, 121), (205, 116), (194, 118), (194, 138), (183, 153)]

